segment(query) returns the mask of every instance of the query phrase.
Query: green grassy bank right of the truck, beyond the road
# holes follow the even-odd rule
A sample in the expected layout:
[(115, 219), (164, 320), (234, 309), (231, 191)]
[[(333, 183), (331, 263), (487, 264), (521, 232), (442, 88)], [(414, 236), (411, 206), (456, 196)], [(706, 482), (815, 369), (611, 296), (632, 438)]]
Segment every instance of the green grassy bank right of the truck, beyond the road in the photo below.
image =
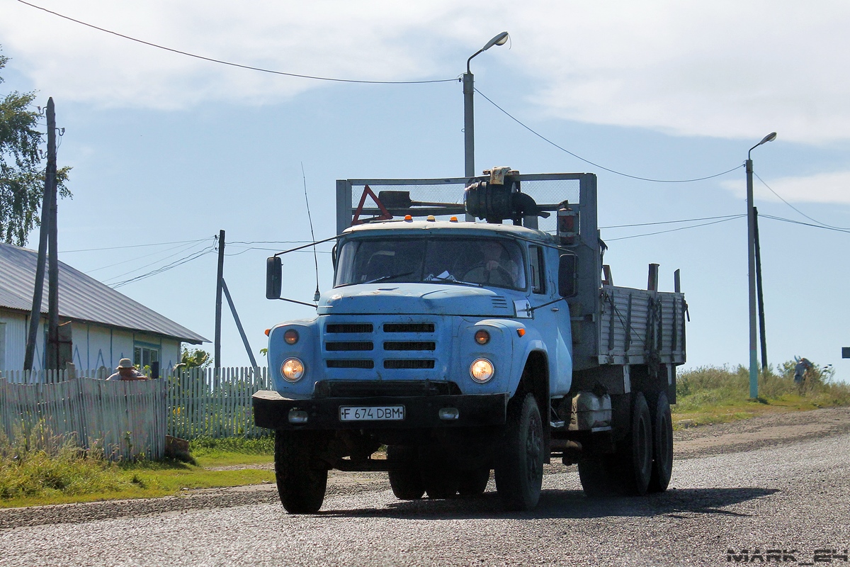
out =
[(805, 411), (850, 405), (850, 385), (836, 383), (830, 367), (814, 366), (805, 383), (794, 383), (794, 361), (770, 368), (759, 377), (757, 400), (750, 399), (750, 374), (744, 366), (703, 366), (678, 375), (677, 428), (706, 423), (732, 422), (766, 413)]

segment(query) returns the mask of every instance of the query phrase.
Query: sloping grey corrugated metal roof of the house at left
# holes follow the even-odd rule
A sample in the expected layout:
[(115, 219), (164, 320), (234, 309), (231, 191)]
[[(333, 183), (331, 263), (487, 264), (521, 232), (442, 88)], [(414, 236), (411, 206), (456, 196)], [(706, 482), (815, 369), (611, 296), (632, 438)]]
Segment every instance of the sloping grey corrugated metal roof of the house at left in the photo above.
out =
[[(0, 243), (0, 307), (31, 311), (37, 258), (38, 252), (34, 250)], [(45, 270), (42, 313), (47, 312)], [(59, 316), (129, 331), (156, 333), (178, 338), (184, 343), (209, 342), (209, 339), (62, 262), (59, 262)]]

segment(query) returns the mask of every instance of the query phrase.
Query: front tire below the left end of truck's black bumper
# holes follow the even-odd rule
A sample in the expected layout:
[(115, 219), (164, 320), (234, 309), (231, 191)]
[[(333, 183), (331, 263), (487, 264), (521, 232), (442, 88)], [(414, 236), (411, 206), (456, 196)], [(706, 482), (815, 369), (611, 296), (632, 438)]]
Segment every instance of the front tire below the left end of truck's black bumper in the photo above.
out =
[(327, 468), (316, 466), (306, 432), (275, 432), (275, 480), (288, 513), (316, 513), (325, 500)]

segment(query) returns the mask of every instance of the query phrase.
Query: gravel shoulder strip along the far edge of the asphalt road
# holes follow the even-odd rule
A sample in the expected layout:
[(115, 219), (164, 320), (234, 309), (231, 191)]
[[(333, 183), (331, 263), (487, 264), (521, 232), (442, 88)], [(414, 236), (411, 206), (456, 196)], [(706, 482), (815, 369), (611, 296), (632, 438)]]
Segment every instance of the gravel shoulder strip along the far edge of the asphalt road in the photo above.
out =
[[(766, 446), (796, 443), (838, 434), (850, 434), (850, 408), (796, 411), (748, 420), (680, 429), (673, 434), (677, 460), (701, 456), (753, 451)], [(269, 467), (266, 465), (263, 468)], [(547, 465), (547, 473), (564, 473), (559, 463)], [(388, 490), (386, 473), (343, 473), (331, 471), (327, 496)], [(0, 509), (0, 530), (41, 524), (79, 524), (99, 519), (185, 513), (196, 509), (278, 504), (273, 484), (226, 489), (185, 490), (179, 496), (138, 500), (85, 502), (56, 506)]]

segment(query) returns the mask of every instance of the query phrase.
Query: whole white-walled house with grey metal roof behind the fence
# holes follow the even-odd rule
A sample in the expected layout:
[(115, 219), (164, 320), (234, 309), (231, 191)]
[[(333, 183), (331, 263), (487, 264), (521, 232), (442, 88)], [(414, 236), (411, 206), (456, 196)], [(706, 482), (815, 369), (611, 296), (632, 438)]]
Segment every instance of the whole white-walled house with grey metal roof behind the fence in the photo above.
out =
[[(0, 243), (0, 371), (22, 370), (38, 252)], [(33, 369), (44, 367), (48, 285)], [(59, 324), (71, 327), (70, 355), (80, 370), (113, 369), (122, 358), (163, 370), (180, 361), (180, 343), (209, 342), (173, 320), (59, 262)], [(65, 339), (67, 340), (67, 339)]]

